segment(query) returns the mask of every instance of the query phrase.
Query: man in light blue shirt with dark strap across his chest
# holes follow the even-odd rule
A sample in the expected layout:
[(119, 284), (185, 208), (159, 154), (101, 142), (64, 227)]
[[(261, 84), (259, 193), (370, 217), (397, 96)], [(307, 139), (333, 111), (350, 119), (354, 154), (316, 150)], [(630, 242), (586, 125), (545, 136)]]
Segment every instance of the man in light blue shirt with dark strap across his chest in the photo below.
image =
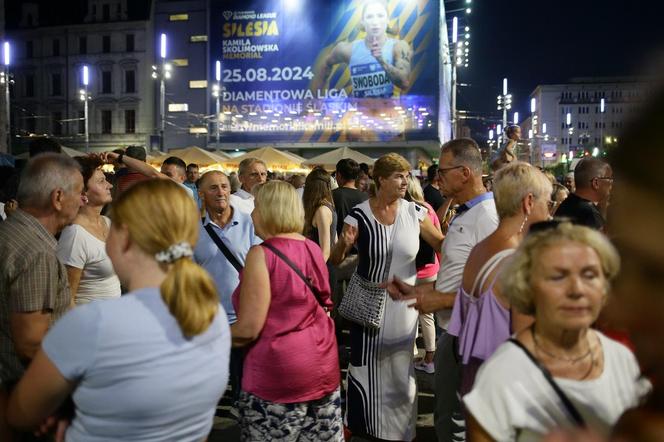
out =
[[(205, 218), (200, 225), (198, 243), (194, 249), (194, 261), (208, 271), (214, 279), (221, 304), (228, 315), (228, 322), (237, 320), (231, 295), (240, 283), (239, 271), (219, 249), (206, 227), (228, 249), (228, 253), (244, 266), (247, 253), (251, 246), (259, 244), (261, 239), (254, 231), (251, 214), (233, 207), (231, 203), (231, 184), (228, 177), (218, 171), (211, 170), (203, 174), (198, 181), (198, 194), (205, 203)], [(233, 399), (237, 401), (242, 380), (242, 352), (231, 351), (230, 383)]]

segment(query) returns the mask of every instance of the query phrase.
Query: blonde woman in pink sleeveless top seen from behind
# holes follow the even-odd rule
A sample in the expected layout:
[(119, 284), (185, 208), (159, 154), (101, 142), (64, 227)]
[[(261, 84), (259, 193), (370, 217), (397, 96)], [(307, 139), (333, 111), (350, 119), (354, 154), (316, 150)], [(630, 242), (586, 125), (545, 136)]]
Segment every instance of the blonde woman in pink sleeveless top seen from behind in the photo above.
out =
[(320, 247), (299, 233), (302, 200), (290, 184), (270, 181), (255, 190), (252, 218), (264, 242), (247, 254), (231, 326), (233, 345), (247, 347), (242, 440), (343, 441), (328, 271)]

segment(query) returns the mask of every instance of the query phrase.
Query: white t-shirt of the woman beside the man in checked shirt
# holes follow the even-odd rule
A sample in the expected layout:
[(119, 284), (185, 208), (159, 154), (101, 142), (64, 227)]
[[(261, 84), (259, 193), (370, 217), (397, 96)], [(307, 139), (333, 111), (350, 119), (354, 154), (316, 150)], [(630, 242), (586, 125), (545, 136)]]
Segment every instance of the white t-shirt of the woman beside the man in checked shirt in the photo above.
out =
[[(104, 220), (111, 225), (110, 219), (104, 217)], [(83, 270), (76, 291), (77, 305), (120, 297), (120, 280), (106, 254), (106, 243), (82, 226), (71, 224), (64, 228), (57, 255), (64, 265)]]

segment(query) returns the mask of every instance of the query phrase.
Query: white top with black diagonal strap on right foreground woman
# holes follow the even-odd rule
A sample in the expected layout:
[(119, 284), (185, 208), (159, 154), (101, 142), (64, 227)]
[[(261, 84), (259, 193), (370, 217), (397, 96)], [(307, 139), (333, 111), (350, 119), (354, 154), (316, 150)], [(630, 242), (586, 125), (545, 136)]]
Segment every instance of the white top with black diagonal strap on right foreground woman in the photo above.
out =
[[(636, 358), (627, 347), (595, 333), (604, 352), (600, 377), (589, 381), (555, 380), (586, 424), (606, 435), (651, 386), (641, 378)], [(498, 347), (484, 363), (463, 401), (496, 441), (537, 441), (555, 428), (574, 425), (542, 372), (511, 342)]]

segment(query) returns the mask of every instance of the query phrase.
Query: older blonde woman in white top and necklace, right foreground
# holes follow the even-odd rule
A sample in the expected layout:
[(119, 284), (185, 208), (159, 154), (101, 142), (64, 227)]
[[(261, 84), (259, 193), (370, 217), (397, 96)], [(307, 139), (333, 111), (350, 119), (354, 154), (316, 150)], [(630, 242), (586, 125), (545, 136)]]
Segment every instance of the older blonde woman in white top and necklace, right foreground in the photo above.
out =
[(650, 388), (630, 350), (591, 328), (617, 252), (590, 228), (545, 223), (502, 272), (510, 303), (534, 322), (496, 350), (464, 397), (473, 441), (542, 440), (575, 426), (607, 435)]

